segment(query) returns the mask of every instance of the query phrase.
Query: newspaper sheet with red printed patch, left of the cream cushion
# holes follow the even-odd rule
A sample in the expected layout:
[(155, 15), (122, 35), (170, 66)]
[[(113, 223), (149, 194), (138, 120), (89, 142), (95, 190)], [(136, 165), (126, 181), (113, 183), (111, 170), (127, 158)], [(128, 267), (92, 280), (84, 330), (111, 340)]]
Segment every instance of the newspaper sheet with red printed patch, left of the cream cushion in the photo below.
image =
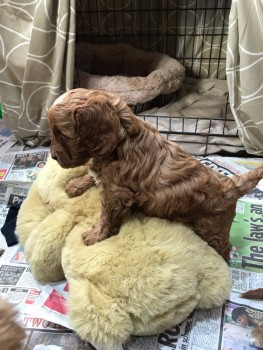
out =
[(19, 245), (6, 249), (0, 262), (0, 296), (18, 304), (21, 312), (72, 328), (67, 316), (67, 281), (40, 284), (32, 276)]

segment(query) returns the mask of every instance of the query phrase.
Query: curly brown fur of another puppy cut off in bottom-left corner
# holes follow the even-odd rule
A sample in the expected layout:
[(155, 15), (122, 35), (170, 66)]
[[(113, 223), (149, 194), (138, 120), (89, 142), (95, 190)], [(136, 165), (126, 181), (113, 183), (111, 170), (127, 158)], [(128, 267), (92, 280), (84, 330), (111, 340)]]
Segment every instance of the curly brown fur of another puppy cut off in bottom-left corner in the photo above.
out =
[(5, 300), (0, 300), (0, 349), (19, 350), (25, 331), (15, 320), (17, 312)]

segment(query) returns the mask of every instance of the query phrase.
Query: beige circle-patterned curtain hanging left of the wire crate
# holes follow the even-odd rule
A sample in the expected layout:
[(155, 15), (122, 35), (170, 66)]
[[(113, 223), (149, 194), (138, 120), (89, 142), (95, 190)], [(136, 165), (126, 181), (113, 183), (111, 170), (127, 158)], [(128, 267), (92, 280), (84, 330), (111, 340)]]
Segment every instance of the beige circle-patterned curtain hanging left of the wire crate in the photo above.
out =
[(0, 1), (3, 118), (30, 146), (49, 140), (47, 110), (73, 87), (75, 0)]

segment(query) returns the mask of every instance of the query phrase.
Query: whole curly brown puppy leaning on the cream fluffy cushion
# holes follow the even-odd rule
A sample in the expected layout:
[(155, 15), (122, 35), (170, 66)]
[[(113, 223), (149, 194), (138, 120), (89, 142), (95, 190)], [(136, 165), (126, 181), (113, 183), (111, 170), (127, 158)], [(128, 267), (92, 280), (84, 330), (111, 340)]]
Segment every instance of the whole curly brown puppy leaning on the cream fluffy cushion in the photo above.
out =
[(101, 220), (83, 234), (85, 244), (117, 234), (123, 215), (136, 205), (148, 216), (190, 225), (229, 259), (236, 202), (262, 178), (263, 165), (242, 176), (223, 176), (165, 140), (109, 92), (65, 93), (50, 107), (49, 123), (51, 155), (63, 168), (93, 158), (90, 172), (68, 183), (68, 195), (103, 185)]

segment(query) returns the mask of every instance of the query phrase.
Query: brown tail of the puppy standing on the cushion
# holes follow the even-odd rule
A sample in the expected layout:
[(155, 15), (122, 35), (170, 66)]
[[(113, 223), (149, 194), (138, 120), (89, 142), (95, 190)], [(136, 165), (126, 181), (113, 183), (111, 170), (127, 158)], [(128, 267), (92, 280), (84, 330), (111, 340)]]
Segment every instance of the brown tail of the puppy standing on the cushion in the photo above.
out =
[(263, 165), (256, 169), (250, 170), (242, 175), (234, 175), (231, 179), (234, 181), (240, 197), (249, 193), (263, 178)]

